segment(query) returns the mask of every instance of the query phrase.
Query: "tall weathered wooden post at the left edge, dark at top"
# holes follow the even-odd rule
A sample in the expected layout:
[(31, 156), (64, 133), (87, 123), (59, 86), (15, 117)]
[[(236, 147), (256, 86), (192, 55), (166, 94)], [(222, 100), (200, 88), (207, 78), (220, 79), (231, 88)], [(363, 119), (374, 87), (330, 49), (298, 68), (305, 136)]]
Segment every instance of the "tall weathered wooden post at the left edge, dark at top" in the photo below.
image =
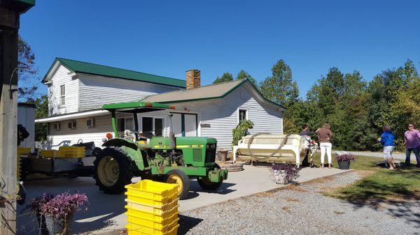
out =
[(0, 234), (16, 234), (18, 30), (34, 0), (0, 0)]

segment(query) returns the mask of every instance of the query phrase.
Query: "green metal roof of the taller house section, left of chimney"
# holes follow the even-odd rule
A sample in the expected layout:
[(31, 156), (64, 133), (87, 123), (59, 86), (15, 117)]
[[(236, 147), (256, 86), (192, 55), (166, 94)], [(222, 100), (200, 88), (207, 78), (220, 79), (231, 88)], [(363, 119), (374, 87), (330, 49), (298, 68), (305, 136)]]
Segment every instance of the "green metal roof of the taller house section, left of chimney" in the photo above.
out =
[(181, 79), (174, 79), (170, 77), (162, 77), (158, 75), (151, 75), (148, 73), (141, 73), (133, 70), (126, 70), (123, 68), (114, 68), (110, 66), (102, 66), (96, 63), (87, 63), (83, 61), (75, 61), (72, 59), (56, 58), (50, 70), (43, 78), (42, 82), (46, 81), (47, 75), (51, 72), (55, 62), (59, 61), (64, 67), (74, 73), (85, 73), (91, 75), (102, 75), (106, 77), (117, 77), (122, 79), (130, 79), (141, 82), (151, 82), (155, 84), (163, 84), (168, 86), (177, 86), (181, 88), (186, 87), (186, 81)]

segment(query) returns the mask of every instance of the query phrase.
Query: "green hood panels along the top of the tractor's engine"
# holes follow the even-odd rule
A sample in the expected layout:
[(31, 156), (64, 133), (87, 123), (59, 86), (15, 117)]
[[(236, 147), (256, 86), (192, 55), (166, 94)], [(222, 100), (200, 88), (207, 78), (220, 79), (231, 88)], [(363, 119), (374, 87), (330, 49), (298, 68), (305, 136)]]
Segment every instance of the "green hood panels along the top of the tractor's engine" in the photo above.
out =
[[(176, 137), (176, 149), (202, 148), (206, 144), (216, 144), (217, 140), (209, 137)], [(153, 137), (151, 149), (169, 149), (168, 137)]]

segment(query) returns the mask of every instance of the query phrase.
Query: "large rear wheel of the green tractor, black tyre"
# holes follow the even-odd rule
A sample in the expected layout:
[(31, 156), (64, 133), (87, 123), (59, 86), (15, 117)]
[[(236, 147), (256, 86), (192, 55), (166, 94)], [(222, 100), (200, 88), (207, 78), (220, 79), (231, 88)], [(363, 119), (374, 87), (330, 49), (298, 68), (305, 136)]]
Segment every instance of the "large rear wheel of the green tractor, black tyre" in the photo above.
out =
[(94, 179), (99, 190), (108, 194), (124, 192), (124, 186), (131, 183), (133, 164), (120, 149), (106, 148), (94, 160)]

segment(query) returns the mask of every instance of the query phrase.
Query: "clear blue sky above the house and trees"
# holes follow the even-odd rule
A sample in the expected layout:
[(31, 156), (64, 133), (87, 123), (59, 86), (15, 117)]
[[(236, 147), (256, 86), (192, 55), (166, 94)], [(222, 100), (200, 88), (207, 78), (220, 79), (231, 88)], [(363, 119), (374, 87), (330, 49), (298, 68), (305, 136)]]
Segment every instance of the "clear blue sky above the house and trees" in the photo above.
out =
[(420, 1), (37, 0), (20, 34), (39, 77), (59, 56), (180, 79), (198, 68), (202, 84), (241, 69), (260, 81), (283, 59), (305, 96), (333, 66), (367, 80), (407, 58), (420, 68), (419, 10)]

